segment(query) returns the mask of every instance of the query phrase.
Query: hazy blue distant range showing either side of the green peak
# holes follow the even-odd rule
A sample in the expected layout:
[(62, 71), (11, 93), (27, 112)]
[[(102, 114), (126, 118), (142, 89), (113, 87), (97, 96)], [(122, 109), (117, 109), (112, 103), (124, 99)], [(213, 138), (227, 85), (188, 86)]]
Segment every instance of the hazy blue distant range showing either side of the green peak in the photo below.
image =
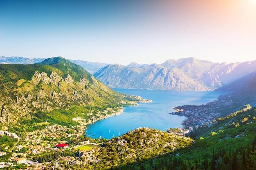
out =
[[(38, 62), (42, 62), (45, 60), (45, 58), (25, 58), (25, 57), (0, 57), (0, 64), (34, 64)], [(103, 68), (104, 66), (108, 65), (106, 63), (99, 63), (99, 62), (86, 62), (83, 60), (69, 60), (70, 62), (73, 62), (74, 64), (82, 66), (86, 71), (93, 74), (99, 69)]]

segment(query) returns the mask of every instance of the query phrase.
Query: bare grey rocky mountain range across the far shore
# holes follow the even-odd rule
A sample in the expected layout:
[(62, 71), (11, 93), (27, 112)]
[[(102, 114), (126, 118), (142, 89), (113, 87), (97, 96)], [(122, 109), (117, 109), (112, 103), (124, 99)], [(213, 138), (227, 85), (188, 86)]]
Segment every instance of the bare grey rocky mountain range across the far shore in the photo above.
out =
[(190, 57), (148, 66), (110, 64), (94, 76), (110, 88), (205, 91), (255, 71), (256, 61), (226, 64)]

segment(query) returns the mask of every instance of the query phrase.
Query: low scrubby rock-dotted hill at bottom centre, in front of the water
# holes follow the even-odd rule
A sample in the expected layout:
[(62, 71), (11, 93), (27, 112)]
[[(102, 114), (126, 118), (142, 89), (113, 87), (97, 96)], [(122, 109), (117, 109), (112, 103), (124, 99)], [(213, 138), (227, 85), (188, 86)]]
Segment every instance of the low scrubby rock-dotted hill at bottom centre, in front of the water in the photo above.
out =
[[(80, 161), (68, 162), (72, 169), (129, 169), (159, 155), (174, 153), (191, 146), (193, 140), (160, 130), (137, 128), (110, 139), (91, 151), (81, 150)], [(153, 164), (153, 162), (151, 162)], [(82, 166), (81, 166), (82, 165)], [(56, 162), (51, 168), (65, 169)]]

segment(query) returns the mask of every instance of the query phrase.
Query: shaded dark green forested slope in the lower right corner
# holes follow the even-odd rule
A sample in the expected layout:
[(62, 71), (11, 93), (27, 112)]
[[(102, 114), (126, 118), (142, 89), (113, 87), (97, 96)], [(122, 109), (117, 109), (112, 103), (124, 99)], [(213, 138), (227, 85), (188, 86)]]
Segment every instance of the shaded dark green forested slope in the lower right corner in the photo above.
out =
[[(146, 170), (254, 170), (256, 168), (256, 108), (246, 105), (189, 134), (194, 143), (144, 161)], [(176, 154), (176, 155), (175, 155)], [(141, 165), (136, 165), (137, 169)], [(135, 168), (136, 169), (136, 168)]]

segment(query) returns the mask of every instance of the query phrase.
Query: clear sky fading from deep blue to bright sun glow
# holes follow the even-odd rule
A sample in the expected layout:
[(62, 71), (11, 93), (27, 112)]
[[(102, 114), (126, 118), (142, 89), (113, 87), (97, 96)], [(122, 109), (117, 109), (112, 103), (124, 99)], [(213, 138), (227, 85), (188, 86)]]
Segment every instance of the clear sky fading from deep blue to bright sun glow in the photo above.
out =
[(0, 0), (0, 56), (256, 60), (256, 0)]

